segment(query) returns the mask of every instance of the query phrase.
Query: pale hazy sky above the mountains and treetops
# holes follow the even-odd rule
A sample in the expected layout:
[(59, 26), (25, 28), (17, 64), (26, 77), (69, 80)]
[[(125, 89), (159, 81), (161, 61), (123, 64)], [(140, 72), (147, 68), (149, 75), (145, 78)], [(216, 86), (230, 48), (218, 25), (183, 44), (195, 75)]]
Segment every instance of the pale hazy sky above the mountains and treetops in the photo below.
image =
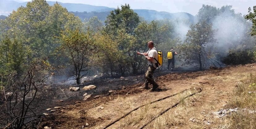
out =
[[(23, 0), (25, 1), (25, 0)], [(27, 0), (29, 1), (29, 0)], [(30, 0), (31, 1), (31, 0)], [(47, 0), (55, 1), (55, 0)], [(203, 4), (216, 6), (232, 5), (238, 13), (248, 14), (248, 7), (256, 6), (256, 0), (57, 0), (62, 3), (82, 3), (94, 6), (117, 6), (129, 4), (132, 9), (148, 9), (170, 13), (187, 12), (196, 15)]]

